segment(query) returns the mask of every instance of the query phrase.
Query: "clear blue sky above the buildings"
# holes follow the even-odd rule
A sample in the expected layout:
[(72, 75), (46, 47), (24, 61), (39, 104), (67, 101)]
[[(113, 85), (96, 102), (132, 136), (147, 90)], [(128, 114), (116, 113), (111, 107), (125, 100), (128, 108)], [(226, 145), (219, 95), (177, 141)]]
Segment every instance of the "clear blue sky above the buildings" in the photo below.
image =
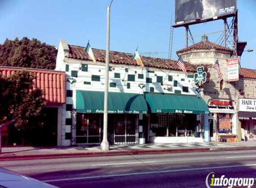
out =
[[(107, 6), (111, 0), (0, 0), (0, 44), (6, 38), (37, 38), (59, 46), (70, 45), (106, 49)], [(256, 69), (256, 0), (237, 0), (239, 41), (247, 41), (241, 57), (243, 68)], [(172, 18), (172, 19), (171, 19)], [(175, 20), (175, 0), (113, 0), (110, 18), (110, 50), (168, 58), (171, 24)], [(190, 26), (194, 41), (201, 34), (223, 30), (223, 20)], [(185, 28), (175, 28), (172, 59), (185, 48)], [(208, 34), (216, 42), (221, 33)], [(189, 43), (192, 45), (192, 43)]]

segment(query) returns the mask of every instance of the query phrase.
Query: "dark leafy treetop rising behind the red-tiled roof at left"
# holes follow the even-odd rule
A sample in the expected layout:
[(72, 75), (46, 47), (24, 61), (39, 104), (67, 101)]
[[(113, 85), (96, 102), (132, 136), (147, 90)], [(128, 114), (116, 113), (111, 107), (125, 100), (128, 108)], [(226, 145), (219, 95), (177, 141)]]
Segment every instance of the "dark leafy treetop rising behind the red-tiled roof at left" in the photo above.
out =
[(33, 38), (6, 39), (0, 45), (0, 66), (55, 69), (57, 49)]

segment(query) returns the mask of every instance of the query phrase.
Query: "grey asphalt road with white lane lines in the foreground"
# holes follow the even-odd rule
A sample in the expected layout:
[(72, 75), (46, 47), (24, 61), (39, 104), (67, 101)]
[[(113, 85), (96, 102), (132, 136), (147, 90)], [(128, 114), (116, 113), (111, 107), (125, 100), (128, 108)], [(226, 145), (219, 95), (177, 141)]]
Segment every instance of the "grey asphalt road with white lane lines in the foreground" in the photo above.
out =
[(0, 166), (60, 188), (206, 188), (210, 172), (256, 178), (256, 151), (35, 159)]

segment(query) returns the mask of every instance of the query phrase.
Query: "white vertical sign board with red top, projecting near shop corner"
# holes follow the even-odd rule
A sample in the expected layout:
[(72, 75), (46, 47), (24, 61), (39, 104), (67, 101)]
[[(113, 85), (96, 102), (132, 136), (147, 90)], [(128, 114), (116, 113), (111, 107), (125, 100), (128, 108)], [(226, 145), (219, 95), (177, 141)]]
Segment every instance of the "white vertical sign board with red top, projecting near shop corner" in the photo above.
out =
[(227, 82), (239, 80), (239, 58), (227, 60)]

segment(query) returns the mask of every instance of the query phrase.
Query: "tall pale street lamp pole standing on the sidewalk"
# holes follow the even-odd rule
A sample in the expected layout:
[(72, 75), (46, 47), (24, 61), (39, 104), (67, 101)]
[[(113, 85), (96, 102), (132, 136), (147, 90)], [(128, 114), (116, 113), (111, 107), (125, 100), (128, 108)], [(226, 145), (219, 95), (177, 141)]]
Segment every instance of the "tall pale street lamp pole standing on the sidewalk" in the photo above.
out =
[(107, 8), (107, 44), (106, 44), (106, 62), (105, 62), (105, 91), (104, 91), (104, 119), (103, 119), (103, 139), (101, 142), (101, 150), (109, 150), (108, 142), (108, 95), (109, 95), (109, 41), (110, 41), (110, 7)]

